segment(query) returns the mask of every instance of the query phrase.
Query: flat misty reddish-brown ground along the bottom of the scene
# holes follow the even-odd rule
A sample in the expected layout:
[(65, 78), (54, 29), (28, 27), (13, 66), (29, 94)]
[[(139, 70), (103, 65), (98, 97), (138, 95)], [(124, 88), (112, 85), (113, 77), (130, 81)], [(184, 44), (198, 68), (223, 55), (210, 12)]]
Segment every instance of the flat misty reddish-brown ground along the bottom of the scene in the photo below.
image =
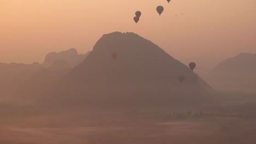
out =
[[(2, 118), (0, 143), (255, 143), (256, 119), (201, 117), (161, 121), (83, 115)], [(97, 117), (97, 118), (96, 118)], [(130, 118), (130, 119), (129, 119)]]

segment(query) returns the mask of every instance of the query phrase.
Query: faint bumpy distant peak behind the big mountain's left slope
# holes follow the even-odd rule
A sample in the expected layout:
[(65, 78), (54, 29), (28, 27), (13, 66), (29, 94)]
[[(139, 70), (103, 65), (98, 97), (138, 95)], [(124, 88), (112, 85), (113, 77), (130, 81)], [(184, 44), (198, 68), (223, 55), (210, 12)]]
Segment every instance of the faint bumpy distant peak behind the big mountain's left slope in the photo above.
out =
[(85, 55), (79, 55), (75, 49), (69, 49), (59, 53), (50, 52), (45, 56), (44, 63), (42, 65), (45, 68), (50, 68), (55, 61), (66, 61), (70, 67), (75, 67), (79, 63), (83, 62), (89, 53), (90, 52), (86, 53)]

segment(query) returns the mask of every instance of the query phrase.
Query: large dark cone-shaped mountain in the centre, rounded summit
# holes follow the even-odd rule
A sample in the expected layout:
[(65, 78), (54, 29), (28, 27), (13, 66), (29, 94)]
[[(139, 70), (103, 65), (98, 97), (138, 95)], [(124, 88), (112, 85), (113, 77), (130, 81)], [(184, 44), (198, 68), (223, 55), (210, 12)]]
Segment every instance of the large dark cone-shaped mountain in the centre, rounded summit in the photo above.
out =
[[(179, 75), (185, 76), (182, 83)], [(40, 102), (65, 107), (199, 105), (214, 92), (151, 41), (135, 33), (113, 32), (104, 34), (85, 61), (51, 87)]]

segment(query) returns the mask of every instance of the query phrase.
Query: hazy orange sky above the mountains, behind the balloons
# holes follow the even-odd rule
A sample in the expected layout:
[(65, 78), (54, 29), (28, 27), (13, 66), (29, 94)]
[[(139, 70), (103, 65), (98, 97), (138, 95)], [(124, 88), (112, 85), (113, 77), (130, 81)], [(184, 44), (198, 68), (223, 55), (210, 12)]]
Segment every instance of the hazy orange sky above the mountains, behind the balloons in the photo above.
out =
[(177, 59), (256, 53), (256, 1), (0, 0), (0, 62), (43, 62), (72, 47), (86, 53), (114, 31), (137, 33)]

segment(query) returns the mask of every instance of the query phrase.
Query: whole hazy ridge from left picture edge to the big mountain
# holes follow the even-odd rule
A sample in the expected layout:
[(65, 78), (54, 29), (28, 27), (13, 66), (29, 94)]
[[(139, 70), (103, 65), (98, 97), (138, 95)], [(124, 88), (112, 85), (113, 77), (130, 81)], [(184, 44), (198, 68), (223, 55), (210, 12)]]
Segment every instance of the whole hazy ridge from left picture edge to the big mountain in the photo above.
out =
[(87, 55), (89, 52), (78, 55), (77, 50), (69, 49), (48, 53), (43, 64), (0, 63), (0, 93), (37, 95), (83, 62)]

